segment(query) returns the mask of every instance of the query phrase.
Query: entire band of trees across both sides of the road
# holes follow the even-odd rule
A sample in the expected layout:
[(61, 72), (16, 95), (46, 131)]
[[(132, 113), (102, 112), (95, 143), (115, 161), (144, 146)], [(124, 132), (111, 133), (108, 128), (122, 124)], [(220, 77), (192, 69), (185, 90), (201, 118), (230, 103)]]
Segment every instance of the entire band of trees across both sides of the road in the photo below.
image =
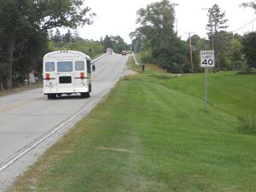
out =
[[(183, 41), (174, 30), (176, 6), (162, 0), (139, 9), (140, 26), (131, 32), (129, 45), (120, 36), (107, 35), (100, 41), (80, 38), (75, 29), (92, 24), (96, 16), (83, 0), (0, 0), (0, 89), (18, 86), (32, 70), (41, 74), (44, 54), (57, 49), (76, 49), (91, 57), (107, 48), (116, 53), (132, 49), (140, 53), (144, 63), (156, 64), (169, 72), (200, 73), (200, 50), (213, 46), (217, 70), (240, 69), (247, 73), (255, 67), (255, 32), (243, 36), (226, 32), (228, 20), (215, 4), (208, 9), (208, 38), (194, 34)], [(253, 2), (242, 6), (256, 7)], [(67, 32), (61, 34), (60, 27), (66, 27)]]

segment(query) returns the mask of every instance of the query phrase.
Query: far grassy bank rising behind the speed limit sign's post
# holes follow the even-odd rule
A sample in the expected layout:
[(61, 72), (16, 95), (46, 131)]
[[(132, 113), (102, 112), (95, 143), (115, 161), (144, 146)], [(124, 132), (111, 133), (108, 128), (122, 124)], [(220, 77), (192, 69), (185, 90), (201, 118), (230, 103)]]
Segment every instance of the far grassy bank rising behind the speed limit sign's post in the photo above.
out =
[[(227, 113), (236, 116), (256, 114), (255, 74), (210, 73), (208, 78), (209, 102)], [(198, 74), (172, 79), (167, 83), (172, 89), (204, 98), (204, 75)]]

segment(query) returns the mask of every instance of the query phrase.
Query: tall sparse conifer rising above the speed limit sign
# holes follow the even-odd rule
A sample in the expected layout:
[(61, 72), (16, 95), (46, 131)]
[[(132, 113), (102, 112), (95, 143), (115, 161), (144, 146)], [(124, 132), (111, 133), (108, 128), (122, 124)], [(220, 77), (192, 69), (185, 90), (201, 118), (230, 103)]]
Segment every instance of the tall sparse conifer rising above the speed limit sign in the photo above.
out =
[(228, 26), (226, 25), (227, 21), (224, 19), (225, 12), (221, 12), (218, 4), (214, 4), (212, 8), (208, 9), (208, 24), (207, 24), (207, 35), (208, 38), (212, 41), (212, 47), (215, 51), (216, 62), (218, 66), (218, 71), (220, 70), (220, 63), (218, 61), (218, 49), (220, 41), (218, 40), (218, 33), (224, 32)]

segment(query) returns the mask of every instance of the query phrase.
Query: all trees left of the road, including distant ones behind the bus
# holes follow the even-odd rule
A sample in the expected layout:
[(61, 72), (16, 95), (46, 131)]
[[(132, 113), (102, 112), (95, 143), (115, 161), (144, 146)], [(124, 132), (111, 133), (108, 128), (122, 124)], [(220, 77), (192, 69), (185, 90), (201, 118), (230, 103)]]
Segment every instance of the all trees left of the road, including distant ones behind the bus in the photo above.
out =
[[(32, 71), (40, 76), (49, 51), (75, 49), (93, 58), (108, 47), (128, 49), (119, 36), (80, 38), (77, 27), (92, 24), (95, 16), (83, 0), (0, 0), (0, 90), (29, 82)], [(61, 34), (61, 27), (67, 32)]]

